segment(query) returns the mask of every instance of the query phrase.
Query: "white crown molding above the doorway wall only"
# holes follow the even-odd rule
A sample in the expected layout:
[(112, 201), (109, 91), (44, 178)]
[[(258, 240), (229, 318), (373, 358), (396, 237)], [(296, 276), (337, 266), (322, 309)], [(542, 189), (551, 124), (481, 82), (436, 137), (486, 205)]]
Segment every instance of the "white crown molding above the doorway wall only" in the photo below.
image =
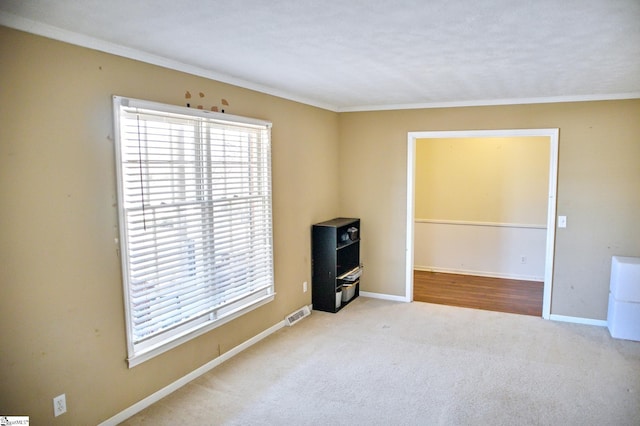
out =
[(459, 107), (481, 107), (498, 105), (529, 105), (529, 104), (557, 104), (562, 102), (593, 102), (593, 101), (615, 101), (624, 99), (638, 99), (640, 92), (629, 93), (608, 93), (590, 95), (567, 95), (567, 96), (547, 96), (540, 98), (507, 98), (507, 99), (484, 99), (469, 101), (451, 102), (424, 102), (414, 104), (392, 104), (392, 105), (357, 105), (350, 107), (339, 107), (336, 112), (363, 112), (363, 111), (394, 111), (404, 109), (434, 109), (434, 108), (459, 108)]

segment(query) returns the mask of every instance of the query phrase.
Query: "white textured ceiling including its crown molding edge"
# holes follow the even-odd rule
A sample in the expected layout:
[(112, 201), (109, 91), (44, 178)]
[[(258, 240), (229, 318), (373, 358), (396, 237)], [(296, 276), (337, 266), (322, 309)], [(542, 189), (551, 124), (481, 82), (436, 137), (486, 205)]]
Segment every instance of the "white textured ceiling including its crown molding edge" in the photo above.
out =
[(0, 24), (334, 111), (640, 97), (640, 0), (2, 0)]

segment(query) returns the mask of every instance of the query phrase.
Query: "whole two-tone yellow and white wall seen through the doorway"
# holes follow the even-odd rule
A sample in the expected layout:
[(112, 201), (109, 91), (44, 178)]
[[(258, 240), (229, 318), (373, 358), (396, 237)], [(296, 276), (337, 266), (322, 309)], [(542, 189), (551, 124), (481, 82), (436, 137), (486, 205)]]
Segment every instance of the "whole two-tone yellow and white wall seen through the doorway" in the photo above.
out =
[(544, 280), (548, 137), (416, 140), (414, 266)]

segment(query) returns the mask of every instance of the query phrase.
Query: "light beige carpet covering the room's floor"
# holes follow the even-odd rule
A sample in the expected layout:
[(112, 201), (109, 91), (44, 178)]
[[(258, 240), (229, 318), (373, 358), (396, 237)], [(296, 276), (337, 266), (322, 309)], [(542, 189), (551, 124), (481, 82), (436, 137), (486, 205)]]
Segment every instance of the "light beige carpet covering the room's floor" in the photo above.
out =
[(359, 298), (314, 311), (128, 425), (640, 425), (640, 343)]

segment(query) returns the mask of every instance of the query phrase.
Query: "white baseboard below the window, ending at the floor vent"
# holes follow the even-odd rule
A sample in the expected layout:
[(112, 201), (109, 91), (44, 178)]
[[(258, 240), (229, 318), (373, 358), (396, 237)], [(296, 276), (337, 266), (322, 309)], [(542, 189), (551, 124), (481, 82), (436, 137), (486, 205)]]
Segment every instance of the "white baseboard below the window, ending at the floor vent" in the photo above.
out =
[(238, 346), (236, 346), (236, 347), (228, 350), (227, 352), (221, 354), (217, 358), (209, 361), (208, 363), (206, 363), (202, 367), (193, 370), (191, 373), (188, 373), (185, 376), (182, 376), (181, 378), (179, 378), (175, 382), (169, 384), (168, 386), (165, 386), (164, 388), (160, 389), (157, 392), (152, 393), (151, 395), (149, 395), (148, 397), (142, 399), (141, 401), (136, 402), (135, 404), (133, 404), (129, 408), (127, 408), (127, 409), (119, 412), (115, 416), (105, 420), (104, 422), (100, 423), (100, 426), (112, 426), (112, 425), (115, 426), (115, 425), (118, 425), (118, 424), (124, 422), (128, 418), (134, 416), (135, 414), (139, 413), (140, 411), (144, 410), (145, 408), (149, 407), (150, 405), (160, 401), (165, 396), (167, 396), (167, 395), (171, 394), (172, 392), (175, 392), (176, 390), (180, 389), (181, 387), (183, 387), (184, 385), (188, 384), (192, 380), (197, 379), (198, 377), (202, 376), (203, 374), (207, 373), (208, 371), (212, 370), (213, 368), (219, 366), (220, 364), (222, 364), (223, 362), (227, 361), (228, 359), (238, 355), (240, 352), (244, 351), (245, 349), (255, 345), (256, 343), (258, 343), (262, 339), (270, 336), (271, 334), (273, 334), (276, 331), (280, 330), (284, 326), (285, 326), (285, 321), (282, 320), (279, 323), (273, 325), (272, 327), (269, 327), (268, 329), (264, 330), (263, 332), (253, 336), (249, 340), (246, 340), (245, 342), (239, 344)]

